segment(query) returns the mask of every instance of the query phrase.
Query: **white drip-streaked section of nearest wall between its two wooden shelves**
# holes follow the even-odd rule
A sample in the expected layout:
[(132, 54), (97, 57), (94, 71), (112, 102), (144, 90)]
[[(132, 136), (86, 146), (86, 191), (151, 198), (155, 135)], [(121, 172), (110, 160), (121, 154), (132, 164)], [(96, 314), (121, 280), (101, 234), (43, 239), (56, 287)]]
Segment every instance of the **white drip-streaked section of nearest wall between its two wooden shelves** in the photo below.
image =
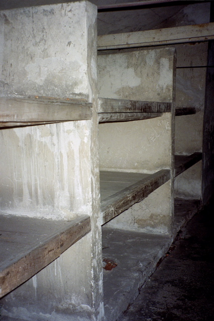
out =
[(55, 219), (90, 214), (89, 137), (85, 120), (2, 130), (1, 209)]

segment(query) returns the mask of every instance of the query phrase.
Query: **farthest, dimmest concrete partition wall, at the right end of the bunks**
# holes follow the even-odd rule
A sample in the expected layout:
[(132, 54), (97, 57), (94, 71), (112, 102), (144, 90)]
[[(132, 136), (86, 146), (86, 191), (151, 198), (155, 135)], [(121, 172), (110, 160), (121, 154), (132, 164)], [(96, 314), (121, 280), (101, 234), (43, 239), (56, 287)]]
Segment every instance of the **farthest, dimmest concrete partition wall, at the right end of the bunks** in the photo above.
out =
[[(175, 154), (202, 151), (207, 42), (176, 45), (176, 107), (195, 107), (196, 114), (175, 117)], [(196, 54), (197, 53), (197, 54)], [(194, 68), (194, 67), (200, 68)], [(182, 68), (187, 67), (187, 68)], [(175, 196), (201, 199), (202, 162), (175, 178)]]

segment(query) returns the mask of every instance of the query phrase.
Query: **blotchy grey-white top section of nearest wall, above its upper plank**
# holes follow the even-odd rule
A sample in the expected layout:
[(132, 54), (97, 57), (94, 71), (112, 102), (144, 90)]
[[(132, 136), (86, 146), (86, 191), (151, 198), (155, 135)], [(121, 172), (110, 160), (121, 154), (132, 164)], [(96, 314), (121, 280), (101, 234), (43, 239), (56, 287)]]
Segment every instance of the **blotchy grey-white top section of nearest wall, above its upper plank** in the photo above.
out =
[(87, 99), (86, 10), (83, 1), (2, 12), (0, 95)]

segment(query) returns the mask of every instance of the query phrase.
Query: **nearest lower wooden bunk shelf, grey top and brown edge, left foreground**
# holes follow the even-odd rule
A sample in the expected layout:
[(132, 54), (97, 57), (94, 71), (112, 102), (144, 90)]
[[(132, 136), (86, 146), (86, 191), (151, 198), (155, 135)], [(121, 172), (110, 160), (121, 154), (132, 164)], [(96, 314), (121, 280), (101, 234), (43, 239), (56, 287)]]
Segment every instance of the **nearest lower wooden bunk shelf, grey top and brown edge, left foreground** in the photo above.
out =
[(53, 221), (0, 215), (0, 297), (27, 281), (90, 231), (90, 217)]

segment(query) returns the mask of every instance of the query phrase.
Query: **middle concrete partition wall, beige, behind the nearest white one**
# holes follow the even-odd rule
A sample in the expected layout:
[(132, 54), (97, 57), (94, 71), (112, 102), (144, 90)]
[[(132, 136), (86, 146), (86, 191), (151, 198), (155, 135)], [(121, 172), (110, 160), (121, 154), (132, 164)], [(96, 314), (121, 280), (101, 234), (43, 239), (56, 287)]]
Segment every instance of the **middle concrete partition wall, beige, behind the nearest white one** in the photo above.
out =
[[(174, 103), (175, 51), (152, 49), (98, 56), (98, 96)], [(161, 117), (99, 124), (101, 170), (173, 173), (174, 108)], [(106, 226), (168, 233), (173, 216), (171, 180)]]

